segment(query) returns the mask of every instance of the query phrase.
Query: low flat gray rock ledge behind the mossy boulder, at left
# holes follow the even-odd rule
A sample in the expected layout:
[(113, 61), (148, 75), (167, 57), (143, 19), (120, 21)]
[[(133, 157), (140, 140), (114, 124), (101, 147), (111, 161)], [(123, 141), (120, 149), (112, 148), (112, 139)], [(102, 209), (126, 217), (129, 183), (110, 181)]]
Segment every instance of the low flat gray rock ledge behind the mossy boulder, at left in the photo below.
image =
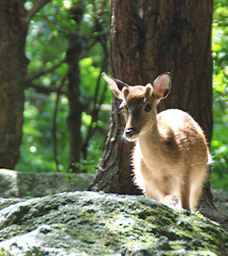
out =
[(87, 190), (91, 174), (32, 174), (0, 169), (0, 197), (43, 197), (59, 192)]

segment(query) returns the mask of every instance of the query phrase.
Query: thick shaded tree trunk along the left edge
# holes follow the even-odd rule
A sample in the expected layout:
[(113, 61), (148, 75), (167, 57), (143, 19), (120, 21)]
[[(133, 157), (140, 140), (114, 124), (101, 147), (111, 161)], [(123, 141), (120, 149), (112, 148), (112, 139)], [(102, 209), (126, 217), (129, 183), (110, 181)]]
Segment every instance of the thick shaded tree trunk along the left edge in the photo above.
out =
[(13, 169), (19, 160), (27, 59), (24, 4), (1, 1), (0, 8), (0, 167)]

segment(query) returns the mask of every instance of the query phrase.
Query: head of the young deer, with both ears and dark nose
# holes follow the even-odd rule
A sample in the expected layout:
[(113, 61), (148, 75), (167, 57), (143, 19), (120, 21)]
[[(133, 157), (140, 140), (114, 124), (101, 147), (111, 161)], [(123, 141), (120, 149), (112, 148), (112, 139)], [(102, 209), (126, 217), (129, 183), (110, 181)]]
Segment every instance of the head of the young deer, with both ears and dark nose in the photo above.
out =
[(102, 75), (116, 97), (121, 100), (119, 112), (123, 113), (126, 122), (124, 137), (130, 142), (136, 141), (156, 123), (156, 106), (171, 90), (170, 73), (162, 73), (152, 85), (148, 83), (146, 86), (130, 86), (121, 80), (110, 78), (105, 73)]

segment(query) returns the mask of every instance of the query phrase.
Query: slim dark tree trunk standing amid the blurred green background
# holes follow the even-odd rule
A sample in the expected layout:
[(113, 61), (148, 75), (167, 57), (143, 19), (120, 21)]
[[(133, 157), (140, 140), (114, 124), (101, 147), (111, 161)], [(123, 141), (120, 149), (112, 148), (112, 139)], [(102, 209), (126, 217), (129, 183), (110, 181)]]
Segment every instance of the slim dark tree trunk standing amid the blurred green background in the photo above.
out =
[[(85, 6), (78, 5), (70, 10), (70, 14), (79, 24), (84, 13)], [(68, 35), (67, 49), (67, 65), (68, 65), (68, 86), (67, 97), (69, 101), (69, 114), (67, 123), (70, 133), (70, 165), (73, 172), (78, 172), (78, 167), (75, 165), (80, 160), (80, 150), (82, 144), (81, 138), (81, 113), (82, 106), (80, 103), (80, 68), (79, 60), (81, 59), (84, 47), (82, 37), (77, 33)]]

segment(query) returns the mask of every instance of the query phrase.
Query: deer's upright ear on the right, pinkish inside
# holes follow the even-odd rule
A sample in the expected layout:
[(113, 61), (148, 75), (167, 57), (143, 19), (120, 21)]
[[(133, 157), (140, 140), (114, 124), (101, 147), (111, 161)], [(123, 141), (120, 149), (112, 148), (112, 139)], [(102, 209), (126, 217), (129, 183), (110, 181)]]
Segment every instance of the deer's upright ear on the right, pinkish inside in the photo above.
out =
[(161, 74), (153, 82), (153, 96), (157, 100), (167, 97), (171, 91), (171, 74), (169, 72)]

